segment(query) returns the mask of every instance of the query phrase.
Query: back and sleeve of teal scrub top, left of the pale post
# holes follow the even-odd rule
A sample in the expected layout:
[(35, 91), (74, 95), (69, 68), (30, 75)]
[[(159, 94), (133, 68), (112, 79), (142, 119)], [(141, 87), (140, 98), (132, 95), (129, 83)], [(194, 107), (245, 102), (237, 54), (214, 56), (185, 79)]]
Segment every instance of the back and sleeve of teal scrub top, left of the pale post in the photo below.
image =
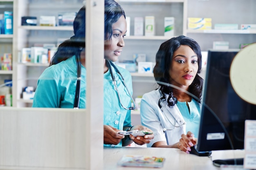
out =
[[(76, 57), (54, 64), (40, 75), (32, 107), (73, 108), (76, 93)], [(86, 69), (81, 65), (79, 108), (86, 104)]]

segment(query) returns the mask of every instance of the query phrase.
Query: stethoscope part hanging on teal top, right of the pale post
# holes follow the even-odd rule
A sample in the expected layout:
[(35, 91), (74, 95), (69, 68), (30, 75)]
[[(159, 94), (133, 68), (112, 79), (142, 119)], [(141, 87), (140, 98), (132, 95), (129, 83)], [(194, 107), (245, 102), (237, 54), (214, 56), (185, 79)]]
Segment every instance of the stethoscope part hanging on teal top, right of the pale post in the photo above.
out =
[[(135, 104), (134, 99), (132, 98), (132, 95), (130, 94), (130, 92), (129, 92), (127, 86), (126, 86), (126, 83), (125, 83), (125, 81), (124, 81), (124, 77), (122, 76), (122, 74), (121, 74), (120, 71), (118, 70), (117, 66), (115, 66), (115, 64), (113, 64), (112, 62), (110, 62), (110, 61), (108, 61), (108, 60), (106, 60), (106, 64), (108, 65), (108, 69), (109, 69), (109, 71), (110, 71), (110, 75), (111, 75), (111, 78), (112, 78), (112, 82), (113, 82), (113, 84), (114, 84), (114, 86), (115, 86), (115, 89), (116, 89), (116, 91), (117, 91), (117, 96), (118, 96), (118, 99), (119, 99), (119, 103), (120, 103), (121, 106), (122, 106), (124, 109), (126, 109), (126, 110), (134, 110), (134, 109), (136, 108), (136, 104)], [(113, 74), (113, 71), (112, 71), (111, 66), (115, 69), (115, 71), (117, 72), (117, 74), (121, 77), (121, 82), (124, 84), (124, 87), (126, 88), (127, 93), (128, 93), (128, 95), (129, 95), (130, 99), (132, 99), (132, 103), (134, 104), (134, 107), (131, 106), (131, 107), (126, 108), (126, 107), (122, 104), (121, 98), (120, 98), (120, 95), (119, 95), (119, 91), (118, 91), (118, 88), (117, 88), (117, 81), (116, 81), (116, 79), (115, 79), (115, 76), (114, 76), (114, 74)]]

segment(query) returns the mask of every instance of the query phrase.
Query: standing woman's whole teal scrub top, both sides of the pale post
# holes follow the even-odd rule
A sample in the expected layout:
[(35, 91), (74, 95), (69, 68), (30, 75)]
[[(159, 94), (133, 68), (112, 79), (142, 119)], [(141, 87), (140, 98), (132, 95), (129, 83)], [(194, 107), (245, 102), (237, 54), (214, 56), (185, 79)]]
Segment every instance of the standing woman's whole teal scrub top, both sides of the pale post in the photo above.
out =
[[(111, 66), (112, 67), (112, 66)], [(45, 69), (38, 79), (32, 107), (47, 108), (73, 108), (76, 92), (76, 58), (75, 56), (52, 65)], [(128, 91), (132, 95), (132, 78), (130, 72), (117, 66), (121, 75), (124, 77)], [(125, 107), (131, 106), (131, 99), (128, 91), (121, 81), (121, 77), (112, 67), (113, 75), (117, 81), (117, 88), (121, 103)], [(104, 125), (109, 125), (119, 130), (123, 127), (131, 126), (130, 110), (122, 108), (117, 91), (112, 82), (110, 70), (104, 74)], [(81, 66), (81, 93), (79, 108), (86, 108), (86, 69)], [(118, 145), (104, 146), (122, 146)]]

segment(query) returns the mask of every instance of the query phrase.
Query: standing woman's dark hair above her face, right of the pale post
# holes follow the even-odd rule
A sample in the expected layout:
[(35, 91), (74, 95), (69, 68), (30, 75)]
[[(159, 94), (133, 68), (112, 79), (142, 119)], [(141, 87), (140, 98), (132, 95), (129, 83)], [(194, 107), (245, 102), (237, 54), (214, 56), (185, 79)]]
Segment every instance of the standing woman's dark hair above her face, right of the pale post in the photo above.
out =
[(115, 0), (105, 0), (105, 34), (104, 40), (110, 40), (112, 36), (112, 25), (124, 15), (124, 9)]

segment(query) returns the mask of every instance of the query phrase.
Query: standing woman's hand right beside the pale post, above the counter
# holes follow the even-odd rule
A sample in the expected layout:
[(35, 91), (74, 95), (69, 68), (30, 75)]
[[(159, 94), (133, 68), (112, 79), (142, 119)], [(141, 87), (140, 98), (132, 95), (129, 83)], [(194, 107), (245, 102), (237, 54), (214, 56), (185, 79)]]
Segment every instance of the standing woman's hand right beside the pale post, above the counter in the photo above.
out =
[(112, 126), (104, 125), (104, 144), (119, 144), (121, 139), (124, 138), (124, 135), (117, 133), (119, 131)]

